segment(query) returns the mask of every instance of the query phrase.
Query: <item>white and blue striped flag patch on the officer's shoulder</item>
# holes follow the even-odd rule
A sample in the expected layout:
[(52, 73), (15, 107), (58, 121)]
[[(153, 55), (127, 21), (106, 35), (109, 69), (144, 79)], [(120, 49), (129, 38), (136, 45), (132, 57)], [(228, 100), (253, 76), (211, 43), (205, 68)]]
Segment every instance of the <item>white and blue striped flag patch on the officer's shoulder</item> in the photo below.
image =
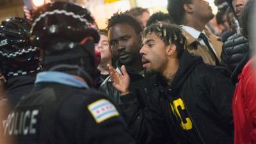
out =
[(108, 120), (108, 118), (119, 115), (115, 106), (106, 99), (100, 99), (92, 102), (92, 104), (89, 104), (87, 108), (90, 113), (92, 113), (92, 116), (97, 123), (103, 122), (104, 120)]

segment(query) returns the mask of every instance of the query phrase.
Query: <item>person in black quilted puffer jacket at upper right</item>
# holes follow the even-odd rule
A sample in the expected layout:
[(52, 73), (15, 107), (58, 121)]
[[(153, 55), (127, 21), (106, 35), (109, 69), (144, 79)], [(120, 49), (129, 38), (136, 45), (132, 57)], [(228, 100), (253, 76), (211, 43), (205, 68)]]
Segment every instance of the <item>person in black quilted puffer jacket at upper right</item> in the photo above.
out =
[(221, 66), (227, 67), (232, 74), (232, 82), (237, 83), (237, 74), (241, 72), (243, 68), (244, 58), (250, 51), (247, 38), (240, 32), (238, 19), (241, 15), (244, 5), (248, 0), (227, 0), (228, 6), (234, 12), (236, 18), (236, 33), (230, 36), (223, 45), (223, 51), (221, 52)]

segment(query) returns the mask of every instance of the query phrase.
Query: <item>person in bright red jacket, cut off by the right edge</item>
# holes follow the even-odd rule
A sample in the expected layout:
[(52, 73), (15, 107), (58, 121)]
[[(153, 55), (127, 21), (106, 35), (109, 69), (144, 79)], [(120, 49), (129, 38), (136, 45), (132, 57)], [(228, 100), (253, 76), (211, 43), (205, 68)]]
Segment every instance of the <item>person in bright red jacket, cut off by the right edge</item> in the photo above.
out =
[[(241, 12), (239, 19), (241, 33), (249, 41), (250, 32), (254, 28), (252, 25), (253, 10), (255, 0), (249, 0)], [(251, 44), (251, 43), (250, 43)], [(253, 47), (255, 49), (255, 47)], [(250, 58), (250, 56), (248, 56)], [(234, 117), (234, 144), (253, 144), (256, 143), (256, 57), (253, 56), (244, 65), (238, 75), (236, 92), (232, 101), (232, 111)]]

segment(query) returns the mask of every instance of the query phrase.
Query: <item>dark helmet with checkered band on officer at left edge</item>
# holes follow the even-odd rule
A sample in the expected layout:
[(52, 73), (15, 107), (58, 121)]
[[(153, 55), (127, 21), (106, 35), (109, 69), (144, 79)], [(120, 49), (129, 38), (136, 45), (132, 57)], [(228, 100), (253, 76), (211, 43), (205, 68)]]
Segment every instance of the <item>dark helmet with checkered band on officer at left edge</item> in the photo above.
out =
[(19, 17), (1, 22), (0, 69), (6, 79), (27, 75), (42, 68), (40, 52), (29, 40), (31, 24)]

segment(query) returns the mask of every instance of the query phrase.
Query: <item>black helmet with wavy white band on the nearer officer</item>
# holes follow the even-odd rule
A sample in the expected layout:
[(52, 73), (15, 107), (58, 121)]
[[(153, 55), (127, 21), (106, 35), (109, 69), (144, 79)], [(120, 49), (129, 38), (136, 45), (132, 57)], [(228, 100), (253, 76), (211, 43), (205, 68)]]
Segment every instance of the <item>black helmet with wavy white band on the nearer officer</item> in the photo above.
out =
[(97, 24), (91, 13), (74, 3), (48, 3), (36, 10), (31, 28), (33, 45), (45, 48), (52, 38), (66, 38), (72, 42), (81, 42), (91, 36), (99, 42)]

